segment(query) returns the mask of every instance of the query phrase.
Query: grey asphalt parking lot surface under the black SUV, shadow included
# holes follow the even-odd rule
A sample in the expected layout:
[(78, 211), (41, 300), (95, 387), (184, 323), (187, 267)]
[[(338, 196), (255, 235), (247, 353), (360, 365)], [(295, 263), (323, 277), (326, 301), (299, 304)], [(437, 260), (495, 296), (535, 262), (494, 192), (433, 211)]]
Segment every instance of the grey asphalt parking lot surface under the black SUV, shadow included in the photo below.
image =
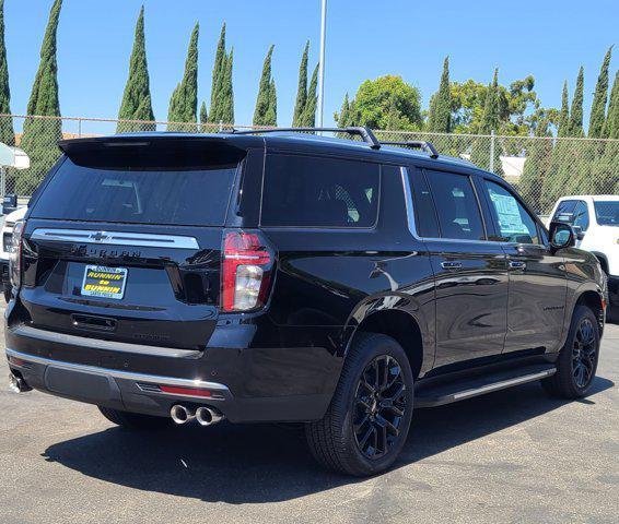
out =
[(618, 325), (587, 398), (532, 383), (418, 410), (396, 466), (362, 480), (320, 469), (295, 429), (131, 433), (7, 374), (2, 355), (2, 524), (618, 522)]

